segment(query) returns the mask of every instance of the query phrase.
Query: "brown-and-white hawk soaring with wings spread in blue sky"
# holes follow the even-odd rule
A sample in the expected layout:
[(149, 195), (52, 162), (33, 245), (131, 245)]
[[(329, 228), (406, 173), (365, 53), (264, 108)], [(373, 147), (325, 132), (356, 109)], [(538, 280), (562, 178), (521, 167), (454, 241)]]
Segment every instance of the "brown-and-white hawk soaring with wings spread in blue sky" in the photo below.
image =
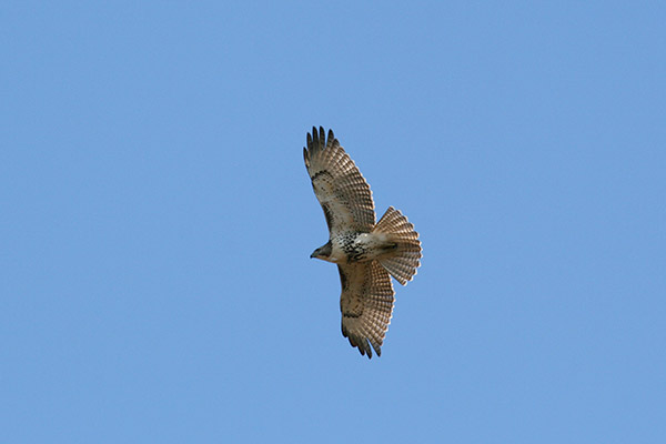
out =
[(310, 258), (337, 265), (343, 336), (361, 355), (372, 359), (374, 349), (381, 356), (395, 300), (390, 276), (405, 285), (416, 274), (418, 233), (393, 206), (375, 223), (370, 185), (332, 130), (326, 138), (313, 127), (306, 143), (305, 168), (329, 226), (329, 242)]

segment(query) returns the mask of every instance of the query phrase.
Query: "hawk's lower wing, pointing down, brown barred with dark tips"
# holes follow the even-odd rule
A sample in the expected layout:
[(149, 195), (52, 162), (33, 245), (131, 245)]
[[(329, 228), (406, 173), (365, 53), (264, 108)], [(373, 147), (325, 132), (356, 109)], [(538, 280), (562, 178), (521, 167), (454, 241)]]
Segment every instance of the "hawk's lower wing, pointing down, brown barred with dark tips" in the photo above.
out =
[(342, 334), (362, 355), (372, 357), (374, 349), (381, 356), (394, 301), (389, 272), (377, 261), (337, 265), (337, 270), (342, 283)]

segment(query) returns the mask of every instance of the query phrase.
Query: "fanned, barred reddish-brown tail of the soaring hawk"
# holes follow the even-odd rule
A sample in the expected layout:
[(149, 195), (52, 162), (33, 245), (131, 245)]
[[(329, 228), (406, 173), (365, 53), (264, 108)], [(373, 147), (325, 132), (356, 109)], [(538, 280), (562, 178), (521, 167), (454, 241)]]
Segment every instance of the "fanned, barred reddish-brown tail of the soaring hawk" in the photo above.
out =
[(387, 234), (397, 244), (392, 254), (379, 261), (397, 282), (405, 285), (421, 265), (421, 241), (414, 225), (400, 210), (389, 206), (372, 232)]

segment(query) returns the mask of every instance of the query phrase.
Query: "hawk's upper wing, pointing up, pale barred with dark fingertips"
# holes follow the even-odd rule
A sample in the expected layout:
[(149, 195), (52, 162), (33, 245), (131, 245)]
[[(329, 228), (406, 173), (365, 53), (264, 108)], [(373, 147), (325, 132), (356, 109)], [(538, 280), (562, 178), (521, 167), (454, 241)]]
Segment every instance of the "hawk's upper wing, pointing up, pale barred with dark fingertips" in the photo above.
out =
[(374, 202), (370, 185), (353, 160), (329, 130), (312, 129), (307, 134), (307, 148), (303, 148), (305, 167), (312, 180), (331, 234), (356, 231), (370, 232), (375, 223)]

